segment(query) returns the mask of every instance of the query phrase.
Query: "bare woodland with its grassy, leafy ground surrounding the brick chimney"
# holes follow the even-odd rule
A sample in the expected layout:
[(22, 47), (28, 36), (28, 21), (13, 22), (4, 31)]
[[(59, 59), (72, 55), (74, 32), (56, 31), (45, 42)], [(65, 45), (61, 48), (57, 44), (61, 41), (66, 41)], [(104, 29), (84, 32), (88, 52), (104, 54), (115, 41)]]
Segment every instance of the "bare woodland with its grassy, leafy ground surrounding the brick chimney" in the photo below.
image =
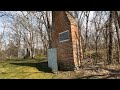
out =
[(78, 23), (80, 70), (55, 75), (47, 68), (52, 11), (0, 11), (0, 78), (120, 78), (120, 12), (67, 12)]

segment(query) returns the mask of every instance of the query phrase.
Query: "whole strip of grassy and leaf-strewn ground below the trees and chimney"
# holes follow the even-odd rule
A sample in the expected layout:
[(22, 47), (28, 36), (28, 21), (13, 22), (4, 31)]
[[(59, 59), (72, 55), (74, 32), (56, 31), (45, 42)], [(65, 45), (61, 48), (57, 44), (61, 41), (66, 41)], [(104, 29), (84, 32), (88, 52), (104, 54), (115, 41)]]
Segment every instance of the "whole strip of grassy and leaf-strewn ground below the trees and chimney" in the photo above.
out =
[(0, 79), (117, 79), (120, 65), (83, 65), (77, 71), (53, 74), (45, 59), (13, 59), (0, 61)]

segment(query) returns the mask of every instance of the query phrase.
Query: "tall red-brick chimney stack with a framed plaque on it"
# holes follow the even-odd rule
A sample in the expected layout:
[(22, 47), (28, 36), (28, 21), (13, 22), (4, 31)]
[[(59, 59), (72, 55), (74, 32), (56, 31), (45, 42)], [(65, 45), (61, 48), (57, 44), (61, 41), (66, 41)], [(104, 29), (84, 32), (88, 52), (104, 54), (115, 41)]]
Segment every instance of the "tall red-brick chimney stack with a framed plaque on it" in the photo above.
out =
[(59, 69), (76, 69), (80, 66), (77, 21), (67, 11), (53, 11), (52, 25), (52, 48), (57, 49)]

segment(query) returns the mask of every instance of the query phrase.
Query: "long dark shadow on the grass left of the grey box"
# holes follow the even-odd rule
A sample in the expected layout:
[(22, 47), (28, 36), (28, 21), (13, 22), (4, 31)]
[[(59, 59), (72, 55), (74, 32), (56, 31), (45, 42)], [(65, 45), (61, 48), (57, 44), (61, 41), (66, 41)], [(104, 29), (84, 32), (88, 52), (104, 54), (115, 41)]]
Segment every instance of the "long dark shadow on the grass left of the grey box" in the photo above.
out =
[(44, 62), (39, 62), (39, 63), (10, 63), (14, 65), (19, 65), (19, 66), (30, 66), (30, 67), (35, 67), (39, 71), (51, 73), (51, 69), (48, 67), (47, 61)]

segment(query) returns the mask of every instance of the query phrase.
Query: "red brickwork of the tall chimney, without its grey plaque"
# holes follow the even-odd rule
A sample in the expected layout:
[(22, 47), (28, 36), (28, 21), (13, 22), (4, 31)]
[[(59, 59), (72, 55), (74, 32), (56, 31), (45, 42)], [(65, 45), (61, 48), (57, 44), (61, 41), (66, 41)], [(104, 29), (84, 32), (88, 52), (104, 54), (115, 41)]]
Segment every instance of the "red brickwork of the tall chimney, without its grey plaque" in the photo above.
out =
[[(52, 48), (57, 48), (58, 66), (60, 69), (74, 69), (76, 63), (76, 35), (78, 29), (65, 11), (53, 11)], [(69, 17), (69, 18), (68, 18)], [(59, 33), (69, 30), (70, 40), (59, 42)], [(76, 32), (77, 33), (77, 32)], [(74, 51), (73, 51), (74, 50)]]

